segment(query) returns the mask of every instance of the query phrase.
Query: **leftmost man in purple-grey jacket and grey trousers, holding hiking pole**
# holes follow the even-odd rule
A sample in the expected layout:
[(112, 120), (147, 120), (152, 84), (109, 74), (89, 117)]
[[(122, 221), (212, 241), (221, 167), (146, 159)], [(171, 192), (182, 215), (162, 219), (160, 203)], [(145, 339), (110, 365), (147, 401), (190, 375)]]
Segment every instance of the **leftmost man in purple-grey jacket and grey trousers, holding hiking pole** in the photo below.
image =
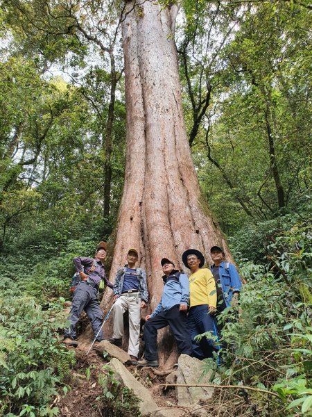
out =
[[(98, 305), (98, 288), (101, 283), (101, 279), (105, 281), (105, 284), (110, 288), (113, 288), (113, 284), (106, 278), (105, 268), (103, 262), (106, 258), (106, 243), (100, 242), (96, 250), (94, 258), (87, 258), (83, 256), (77, 256), (73, 258), (76, 271), (80, 275), (80, 283), (73, 291), (73, 300), (71, 302), (71, 311), (69, 313), (70, 327), (64, 332), (65, 345), (74, 346), (78, 345), (76, 341), (76, 324), (80, 318), (80, 314), (83, 310), (87, 313), (87, 316), (91, 322), (94, 337), (96, 334), (96, 341), (103, 341), (103, 332), (99, 332), (102, 325), (103, 313)], [(99, 332), (99, 333), (98, 333)]]

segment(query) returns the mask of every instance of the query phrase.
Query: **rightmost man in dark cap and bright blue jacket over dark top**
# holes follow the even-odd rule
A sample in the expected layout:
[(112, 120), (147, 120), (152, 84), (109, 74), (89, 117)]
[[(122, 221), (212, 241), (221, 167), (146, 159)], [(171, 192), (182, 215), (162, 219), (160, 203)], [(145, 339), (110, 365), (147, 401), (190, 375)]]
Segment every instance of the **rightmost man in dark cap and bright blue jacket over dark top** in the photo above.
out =
[(241, 278), (233, 263), (225, 262), (225, 252), (220, 246), (210, 249), (211, 272), (216, 281), (217, 313), (221, 313), (229, 306), (237, 304), (241, 291)]

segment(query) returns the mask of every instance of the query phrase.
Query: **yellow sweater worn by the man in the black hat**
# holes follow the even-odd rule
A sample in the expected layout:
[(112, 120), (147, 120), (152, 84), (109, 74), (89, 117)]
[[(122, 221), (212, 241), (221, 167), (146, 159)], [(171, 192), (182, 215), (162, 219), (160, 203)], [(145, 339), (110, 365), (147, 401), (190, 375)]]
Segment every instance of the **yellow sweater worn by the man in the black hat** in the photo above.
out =
[(202, 304), (216, 307), (216, 281), (209, 269), (201, 268), (189, 276), (189, 292), (191, 307)]

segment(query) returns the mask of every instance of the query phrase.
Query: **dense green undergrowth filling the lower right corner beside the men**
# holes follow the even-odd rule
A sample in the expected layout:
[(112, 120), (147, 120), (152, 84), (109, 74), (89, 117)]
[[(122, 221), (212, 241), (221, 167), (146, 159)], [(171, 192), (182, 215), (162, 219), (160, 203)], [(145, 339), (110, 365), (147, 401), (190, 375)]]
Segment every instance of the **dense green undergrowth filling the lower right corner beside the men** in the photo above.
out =
[[(312, 415), (312, 231), (293, 224), (266, 248), (267, 264), (241, 264), (248, 279), (238, 307), (220, 315), (223, 365), (217, 384), (239, 391), (239, 416)], [(209, 363), (207, 367), (211, 367)], [(236, 408), (237, 393), (227, 393)], [(275, 394), (275, 395), (274, 395)], [(230, 407), (230, 405), (229, 405)], [(245, 414), (244, 414), (245, 413)]]

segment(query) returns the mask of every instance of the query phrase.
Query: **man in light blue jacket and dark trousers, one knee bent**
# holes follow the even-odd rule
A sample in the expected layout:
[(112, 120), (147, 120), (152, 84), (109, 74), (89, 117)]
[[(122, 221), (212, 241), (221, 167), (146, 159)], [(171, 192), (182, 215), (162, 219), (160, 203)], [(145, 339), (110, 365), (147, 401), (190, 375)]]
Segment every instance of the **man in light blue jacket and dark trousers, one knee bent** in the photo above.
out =
[(192, 353), (191, 335), (187, 327), (189, 279), (184, 272), (176, 270), (175, 264), (169, 259), (163, 258), (161, 264), (164, 272), (162, 300), (153, 313), (145, 318), (145, 359), (138, 361), (138, 366), (158, 366), (157, 330), (168, 325), (177, 342), (179, 353)]

